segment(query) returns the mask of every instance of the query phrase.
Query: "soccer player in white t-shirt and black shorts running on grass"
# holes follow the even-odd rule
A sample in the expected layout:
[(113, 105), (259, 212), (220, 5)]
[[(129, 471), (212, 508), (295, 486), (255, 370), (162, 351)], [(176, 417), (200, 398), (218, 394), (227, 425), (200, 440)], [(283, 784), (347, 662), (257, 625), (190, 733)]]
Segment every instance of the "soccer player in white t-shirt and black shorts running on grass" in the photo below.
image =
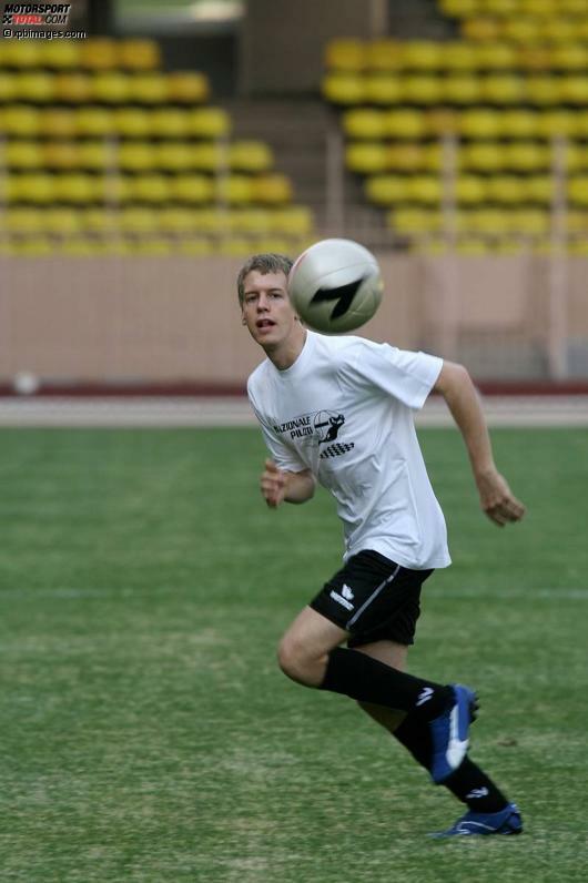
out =
[(525, 508), (496, 469), (467, 371), (305, 328), (287, 294), (291, 267), (283, 255), (254, 255), (237, 278), (243, 325), (266, 355), (247, 383), (271, 454), (261, 491), (275, 508), (306, 503), (316, 481), (326, 487), (343, 521), (345, 555), (283, 636), (280, 667), (301, 684), (355, 699), (467, 805), (438, 835), (518, 834), (517, 806), (467, 757), (474, 692), (405, 671), (422, 583), (450, 564), (413, 422), (432, 390), (462, 433), (486, 515), (504, 526)]

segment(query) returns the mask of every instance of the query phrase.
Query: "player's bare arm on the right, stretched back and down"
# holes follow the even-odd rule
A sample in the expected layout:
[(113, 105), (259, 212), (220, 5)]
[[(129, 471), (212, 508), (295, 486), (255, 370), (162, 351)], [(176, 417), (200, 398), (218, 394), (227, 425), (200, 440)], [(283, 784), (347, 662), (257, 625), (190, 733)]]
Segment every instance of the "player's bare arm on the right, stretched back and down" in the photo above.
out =
[(486, 419), (467, 369), (454, 362), (444, 362), (433, 389), (445, 398), (462, 433), (483, 510), (499, 527), (519, 521), (525, 506), (495, 466)]

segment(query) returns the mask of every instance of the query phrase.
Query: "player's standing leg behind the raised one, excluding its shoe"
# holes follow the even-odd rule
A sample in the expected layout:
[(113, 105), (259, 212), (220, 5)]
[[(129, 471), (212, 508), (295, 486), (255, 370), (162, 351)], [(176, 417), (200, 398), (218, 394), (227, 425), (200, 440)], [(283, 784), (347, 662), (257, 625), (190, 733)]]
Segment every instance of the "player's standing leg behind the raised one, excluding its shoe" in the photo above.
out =
[[(408, 648), (395, 641), (375, 641), (358, 647), (357, 650), (396, 669), (406, 668)], [(417, 763), (428, 770), (432, 745), (426, 727), (418, 721), (410, 721), (402, 712), (366, 702), (359, 702), (359, 706), (373, 720), (388, 730), (413, 754)], [(443, 784), (474, 812), (495, 813), (508, 806), (508, 800), (501, 791), (467, 757)]]

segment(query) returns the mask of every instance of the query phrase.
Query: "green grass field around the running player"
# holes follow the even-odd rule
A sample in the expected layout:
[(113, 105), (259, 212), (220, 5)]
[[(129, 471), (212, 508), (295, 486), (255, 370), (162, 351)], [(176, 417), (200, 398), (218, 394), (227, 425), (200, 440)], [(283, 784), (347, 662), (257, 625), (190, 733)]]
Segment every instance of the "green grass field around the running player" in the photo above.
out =
[(0, 434), (0, 881), (586, 880), (586, 430), (496, 430), (528, 517), (478, 514), (420, 434), (454, 566), (410, 668), (472, 682), (473, 757), (520, 838), (430, 841), (458, 804), (343, 697), (276, 669), (339, 566), (323, 491), (270, 511), (254, 429)]

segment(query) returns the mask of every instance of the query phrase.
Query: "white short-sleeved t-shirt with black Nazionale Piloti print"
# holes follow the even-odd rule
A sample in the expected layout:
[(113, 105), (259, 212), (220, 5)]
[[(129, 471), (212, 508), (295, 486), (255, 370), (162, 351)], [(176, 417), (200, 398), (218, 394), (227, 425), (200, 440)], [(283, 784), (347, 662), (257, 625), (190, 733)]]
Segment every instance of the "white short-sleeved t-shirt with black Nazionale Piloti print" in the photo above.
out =
[(346, 560), (373, 549), (415, 570), (447, 567), (447, 530), (413, 420), (443, 361), (308, 331), (296, 362), (265, 359), (247, 393), (281, 469), (311, 469), (337, 501)]

